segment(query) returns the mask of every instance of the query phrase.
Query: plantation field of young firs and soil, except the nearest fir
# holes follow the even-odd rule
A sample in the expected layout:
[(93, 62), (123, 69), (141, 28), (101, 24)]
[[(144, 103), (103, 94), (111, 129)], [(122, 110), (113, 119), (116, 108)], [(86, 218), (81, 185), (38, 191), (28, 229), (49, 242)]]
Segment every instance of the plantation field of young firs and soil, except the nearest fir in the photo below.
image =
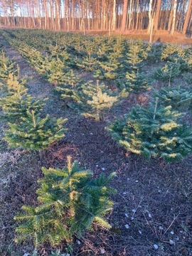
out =
[[(2, 29), (0, 47), (0, 255), (192, 255), (192, 46)], [(16, 243), (41, 168), (69, 155), (93, 178), (116, 173), (110, 225)]]

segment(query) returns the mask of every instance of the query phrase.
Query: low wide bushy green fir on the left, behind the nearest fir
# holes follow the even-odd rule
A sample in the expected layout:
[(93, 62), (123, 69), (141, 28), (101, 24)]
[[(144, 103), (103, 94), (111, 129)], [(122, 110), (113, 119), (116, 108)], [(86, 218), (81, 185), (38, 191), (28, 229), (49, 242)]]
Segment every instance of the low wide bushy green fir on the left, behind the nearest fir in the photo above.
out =
[(51, 119), (49, 115), (40, 117), (34, 110), (26, 110), (26, 115), (20, 118), (18, 124), (9, 122), (9, 129), (5, 131), (4, 140), (9, 146), (22, 149), (46, 149), (53, 142), (58, 142), (63, 134), (63, 123), (66, 119)]

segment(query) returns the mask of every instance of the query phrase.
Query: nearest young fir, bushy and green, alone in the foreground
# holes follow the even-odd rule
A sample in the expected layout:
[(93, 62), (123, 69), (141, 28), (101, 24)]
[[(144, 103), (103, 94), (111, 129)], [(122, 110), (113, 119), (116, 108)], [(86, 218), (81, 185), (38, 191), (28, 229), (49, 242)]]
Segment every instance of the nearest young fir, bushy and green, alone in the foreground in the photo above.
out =
[(42, 168), (44, 178), (39, 180), (37, 190), (39, 206), (23, 206), (24, 214), (15, 220), (23, 223), (16, 228), (16, 242), (33, 238), (36, 249), (43, 242), (59, 245), (66, 240), (72, 242), (73, 235), (82, 237), (85, 230), (97, 223), (102, 228), (111, 228), (105, 220), (112, 210), (110, 195), (114, 193), (107, 184), (114, 173), (105, 177), (92, 178), (92, 171), (80, 169), (78, 161), (64, 169)]

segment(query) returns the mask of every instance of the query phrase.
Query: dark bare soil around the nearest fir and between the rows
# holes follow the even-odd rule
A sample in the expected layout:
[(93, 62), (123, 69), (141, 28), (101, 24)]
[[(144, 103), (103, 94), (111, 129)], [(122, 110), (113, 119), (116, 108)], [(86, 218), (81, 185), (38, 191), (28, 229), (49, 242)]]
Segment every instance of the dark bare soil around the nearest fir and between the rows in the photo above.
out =
[[(112, 197), (114, 210), (107, 217), (112, 229), (95, 227), (81, 240), (74, 238), (71, 255), (192, 255), (192, 157), (166, 164), (159, 159), (148, 162), (133, 154), (127, 156), (107, 133), (107, 122), (82, 118), (66, 107), (55, 95), (53, 85), (43, 80), (4, 38), (0, 41), (9, 58), (20, 66), (21, 76), (31, 77), (28, 92), (34, 97), (49, 97), (44, 113), (68, 118), (64, 139), (41, 158), (36, 152), (10, 150), (0, 142), (0, 255), (23, 256), (33, 251), (31, 240), (20, 245), (14, 243), (14, 215), (23, 204), (36, 204), (41, 166), (61, 168), (68, 154), (94, 171), (95, 176), (117, 172), (111, 183), (117, 189)], [(82, 76), (86, 78), (86, 74)], [(134, 103), (134, 97), (129, 95), (122, 105), (107, 114), (107, 119), (122, 116)], [(0, 134), (3, 129), (1, 123)], [(58, 248), (65, 252), (65, 247), (63, 242)], [(39, 249), (40, 255), (46, 256), (51, 250), (45, 245)]]

